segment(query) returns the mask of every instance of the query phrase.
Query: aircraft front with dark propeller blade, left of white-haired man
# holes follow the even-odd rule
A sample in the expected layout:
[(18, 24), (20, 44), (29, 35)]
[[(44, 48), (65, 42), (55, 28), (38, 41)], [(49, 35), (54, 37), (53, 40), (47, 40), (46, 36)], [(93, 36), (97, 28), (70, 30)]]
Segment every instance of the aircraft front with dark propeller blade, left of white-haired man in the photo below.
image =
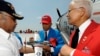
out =
[(61, 15), (59, 9), (57, 8), (57, 13), (59, 16), (56, 22), (57, 29), (60, 31), (65, 43), (68, 44), (69, 36), (71, 34), (71, 31), (74, 30), (74, 26), (68, 23), (68, 19), (66, 17), (67, 12)]

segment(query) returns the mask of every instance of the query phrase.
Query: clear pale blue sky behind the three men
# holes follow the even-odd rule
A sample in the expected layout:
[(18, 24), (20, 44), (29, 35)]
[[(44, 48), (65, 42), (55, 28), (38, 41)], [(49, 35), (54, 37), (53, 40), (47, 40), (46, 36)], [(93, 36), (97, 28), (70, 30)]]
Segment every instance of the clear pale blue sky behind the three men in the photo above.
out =
[(52, 17), (52, 27), (56, 27), (58, 14), (56, 8), (59, 8), (61, 14), (67, 12), (71, 0), (6, 0), (11, 2), (17, 13), (24, 16), (19, 20), (15, 31), (20, 29), (41, 30), (41, 17), (49, 14)]

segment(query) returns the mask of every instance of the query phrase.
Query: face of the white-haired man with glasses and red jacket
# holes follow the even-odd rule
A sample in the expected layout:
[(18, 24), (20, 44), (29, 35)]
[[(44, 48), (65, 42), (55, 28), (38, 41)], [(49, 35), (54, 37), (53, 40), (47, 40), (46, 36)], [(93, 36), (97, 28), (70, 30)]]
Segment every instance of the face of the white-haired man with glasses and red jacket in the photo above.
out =
[(81, 17), (83, 16), (81, 9), (82, 8), (80, 7), (77, 8), (75, 4), (70, 4), (69, 10), (67, 13), (69, 24), (76, 25), (77, 23), (79, 23), (79, 21), (81, 20)]

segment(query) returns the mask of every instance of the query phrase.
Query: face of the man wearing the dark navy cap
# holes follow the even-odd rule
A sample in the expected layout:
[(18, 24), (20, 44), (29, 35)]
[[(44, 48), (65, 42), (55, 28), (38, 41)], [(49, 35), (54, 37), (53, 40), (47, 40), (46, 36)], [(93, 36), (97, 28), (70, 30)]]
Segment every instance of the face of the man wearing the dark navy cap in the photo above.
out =
[(1, 18), (2, 20), (0, 22), (2, 24), (2, 28), (8, 33), (13, 32), (17, 25), (16, 19), (6, 12), (2, 13)]

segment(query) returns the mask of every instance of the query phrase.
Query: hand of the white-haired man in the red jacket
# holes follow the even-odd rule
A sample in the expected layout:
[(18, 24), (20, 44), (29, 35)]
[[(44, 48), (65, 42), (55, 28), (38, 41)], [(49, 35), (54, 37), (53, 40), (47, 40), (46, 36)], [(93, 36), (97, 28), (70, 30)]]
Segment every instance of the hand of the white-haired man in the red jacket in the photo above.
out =
[(63, 45), (62, 48), (60, 49), (60, 53), (59, 56), (70, 56), (70, 53), (73, 51), (74, 49), (69, 47), (68, 45)]

